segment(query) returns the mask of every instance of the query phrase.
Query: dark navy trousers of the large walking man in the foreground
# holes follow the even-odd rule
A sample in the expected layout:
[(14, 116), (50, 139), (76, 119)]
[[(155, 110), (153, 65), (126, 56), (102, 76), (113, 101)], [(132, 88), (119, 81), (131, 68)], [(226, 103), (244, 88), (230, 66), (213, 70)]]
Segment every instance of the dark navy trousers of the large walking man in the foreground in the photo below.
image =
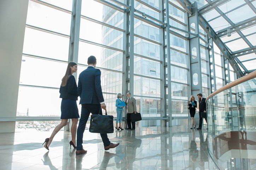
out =
[[(76, 150), (82, 150), (83, 149), (83, 132), (85, 132), (85, 126), (87, 123), (87, 120), (89, 118), (90, 113), (92, 114), (102, 114), (100, 105), (92, 105), (92, 104), (83, 104), (82, 105), (82, 111), (81, 111), (81, 118), (79, 120), (79, 125), (77, 127), (77, 138), (76, 138)], [(104, 146), (109, 146), (110, 141), (109, 138), (107, 138), (106, 133), (100, 133), (100, 137), (103, 141)]]

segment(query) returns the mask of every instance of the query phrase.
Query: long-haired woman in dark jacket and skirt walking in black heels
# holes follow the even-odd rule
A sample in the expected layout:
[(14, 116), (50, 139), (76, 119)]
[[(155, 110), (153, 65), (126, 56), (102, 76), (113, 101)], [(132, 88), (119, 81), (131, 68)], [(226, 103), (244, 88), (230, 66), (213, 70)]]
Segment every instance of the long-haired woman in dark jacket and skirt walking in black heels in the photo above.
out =
[(77, 108), (77, 85), (75, 77), (72, 75), (77, 71), (77, 64), (74, 62), (70, 62), (68, 64), (68, 68), (66, 70), (65, 76), (62, 78), (62, 83), (59, 89), (60, 98), (62, 98), (61, 102), (61, 122), (52, 132), (50, 138), (46, 138), (43, 144), (44, 147), (49, 150), (49, 146), (53, 140), (53, 137), (64, 127), (66, 126), (68, 119), (72, 119), (71, 126), (71, 136), (72, 140), (69, 142), (70, 148), (71, 145), (76, 148), (76, 125), (78, 122), (79, 114)]

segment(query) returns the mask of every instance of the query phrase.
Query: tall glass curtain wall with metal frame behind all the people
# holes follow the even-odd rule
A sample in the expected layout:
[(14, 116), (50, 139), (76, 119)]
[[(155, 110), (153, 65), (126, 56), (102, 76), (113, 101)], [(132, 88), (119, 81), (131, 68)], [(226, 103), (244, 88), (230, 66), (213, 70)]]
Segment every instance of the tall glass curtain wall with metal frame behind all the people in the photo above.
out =
[[(120, 3), (121, 2), (121, 3)], [(162, 0), (134, 1), (134, 90), (137, 110), (142, 117), (161, 117), (163, 73)], [(172, 117), (188, 117), (190, 97), (190, 61), (188, 13), (176, 0), (168, 1), (170, 24), (170, 63)], [(109, 3), (109, 4), (108, 4)], [(78, 75), (87, 68), (87, 58), (94, 55), (101, 70), (101, 85), (109, 114), (116, 116), (116, 93), (122, 93), (124, 53), (127, 53), (126, 1), (107, 3), (82, 0), (78, 46)], [(121, 12), (118, 8), (123, 9)], [(29, 1), (25, 30), (17, 116), (59, 117), (59, 87), (69, 62), (72, 1)], [(127, 19), (129, 22), (130, 18)], [(57, 22), (58, 21), (58, 22)], [(159, 22), (160, 21), (160, 22)], [(157, 27), (157, 25), (160, 27)], [(128, 30), (129, 32), (129, 30)], [(127, 39), (129, 41), (129, 39)], [(200, 56), (203, 95), (209, 95), (208, 36), (200, 28)], [(223, 70), (217, 48), (215, 69)], [(193, 50), (192, 50), (193, 51)], [(230, 67), (231, 68), (231, 67)], [(223, 77), (216, 74), (223, 86)], [(235, 79), (230, 70), (230, 79)], [(128, 77), (129, 78), (129, 77)], [(219, 86), (219, 85), (218, 85)], [(163, 88), (163, 87), (162, 87)], [(78, 101), (79, 102), (79, 99)], [(47, 106), (47, 107), (46, 107)], [(80, 109), (80, 107), (78, 107)], [(81, 110), (80, 110), (81, 111)], [(160, 125), (159, 120), (141, 121), (141, 126)]]

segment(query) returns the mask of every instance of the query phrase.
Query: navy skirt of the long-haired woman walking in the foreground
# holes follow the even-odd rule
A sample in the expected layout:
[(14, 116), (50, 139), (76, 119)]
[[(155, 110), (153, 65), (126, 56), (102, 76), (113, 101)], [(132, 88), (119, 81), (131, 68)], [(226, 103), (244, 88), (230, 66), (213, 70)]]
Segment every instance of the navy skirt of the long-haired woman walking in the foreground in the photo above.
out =
[(79, 118), (78, 108), (75, 100), (62, 99), (60, 109), (60, 119)]

